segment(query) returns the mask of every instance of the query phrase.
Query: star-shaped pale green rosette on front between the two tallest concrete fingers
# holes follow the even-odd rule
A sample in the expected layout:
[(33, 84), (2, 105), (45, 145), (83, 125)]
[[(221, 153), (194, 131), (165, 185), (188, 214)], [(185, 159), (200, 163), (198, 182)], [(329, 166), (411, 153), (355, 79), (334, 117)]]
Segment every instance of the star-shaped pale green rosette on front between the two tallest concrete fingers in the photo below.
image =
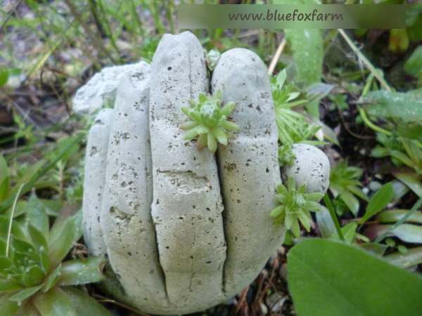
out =
[(227, 102), (222, 107), (222, 93), (217, 91), (212, 96), (199, 95), (198, 102), (191, 100), (191, 107), (182, 107), (182, 111), (189, 117), (189, 121), (181, 126), (186, 130), (185, 140), (196, 139), (198, 149), (208, 147), (215, 153), (217, 143), (227, 145), (227, 131), (237, 131), (239, 126), (228, 117), (236, 104)]

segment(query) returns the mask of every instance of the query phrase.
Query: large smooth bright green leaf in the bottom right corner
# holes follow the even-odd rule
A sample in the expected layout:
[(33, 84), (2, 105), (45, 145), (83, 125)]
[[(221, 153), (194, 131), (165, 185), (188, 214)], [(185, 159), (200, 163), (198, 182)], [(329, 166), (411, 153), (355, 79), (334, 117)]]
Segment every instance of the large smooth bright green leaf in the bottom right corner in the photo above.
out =
[(307, 239), (290, 249), (287, 266), (300, 316), (421, 315), (422, 278), (355, 246)]

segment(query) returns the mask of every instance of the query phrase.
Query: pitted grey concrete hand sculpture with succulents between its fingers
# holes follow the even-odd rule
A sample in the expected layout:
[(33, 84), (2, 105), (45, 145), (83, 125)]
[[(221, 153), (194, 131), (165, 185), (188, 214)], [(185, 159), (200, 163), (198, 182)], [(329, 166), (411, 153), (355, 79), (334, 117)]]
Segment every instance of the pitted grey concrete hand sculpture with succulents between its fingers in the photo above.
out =
[[(180, 126), (181, 107), (215, 91), (236, 103), (230, 117), (239, 129), (214, 155), (184, 140)], [(84, 237), (92, 254), (108, 256), (115, 295), (174, 315), (222, 303), (252, 282), (285, 233), (269, 216), (281, 183), (277, 139), (267, 70), (255, 53), (222, 54), (210, 81), (198, 39), (165, 34), (151, 67), (140, 62), (124, 74), (114, 109), (99, 112), (88, 137)], [(320, 176), (310, 179), (316, 190), (327, 186), (321, 157), (313, 169)]]

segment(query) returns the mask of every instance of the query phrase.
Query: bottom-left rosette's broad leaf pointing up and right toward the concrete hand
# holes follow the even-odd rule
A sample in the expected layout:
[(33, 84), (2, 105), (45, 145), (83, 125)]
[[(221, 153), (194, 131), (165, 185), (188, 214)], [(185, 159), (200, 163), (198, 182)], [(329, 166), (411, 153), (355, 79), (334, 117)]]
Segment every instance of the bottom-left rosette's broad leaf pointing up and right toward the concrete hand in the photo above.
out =
[(65, 258), (73, 244), (82, 237), (82, 212), (79, 211), (75, 216), (68, 218), (63, 225), (63, 229), (51, 237), (49, 258), (51, 266), (54, 267)]

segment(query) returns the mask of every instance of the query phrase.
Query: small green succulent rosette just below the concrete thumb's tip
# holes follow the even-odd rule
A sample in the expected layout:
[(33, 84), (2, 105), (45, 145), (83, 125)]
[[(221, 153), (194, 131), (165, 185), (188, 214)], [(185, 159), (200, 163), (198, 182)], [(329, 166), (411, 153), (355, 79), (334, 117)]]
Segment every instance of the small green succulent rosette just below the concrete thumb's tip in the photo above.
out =
[(270, 213), (274, 223), (284, 224), (295, 237), (300, 236), (299, 221), (309, 232), (311, 228), (311, 211), (319, 211), (319, 201), (324, 195), (319, 192), (307, 193), (305, 185), (296, 186), (293, 178), (288, 178), (287, 187), (277, 187), (276, 201), (280, 204)]

